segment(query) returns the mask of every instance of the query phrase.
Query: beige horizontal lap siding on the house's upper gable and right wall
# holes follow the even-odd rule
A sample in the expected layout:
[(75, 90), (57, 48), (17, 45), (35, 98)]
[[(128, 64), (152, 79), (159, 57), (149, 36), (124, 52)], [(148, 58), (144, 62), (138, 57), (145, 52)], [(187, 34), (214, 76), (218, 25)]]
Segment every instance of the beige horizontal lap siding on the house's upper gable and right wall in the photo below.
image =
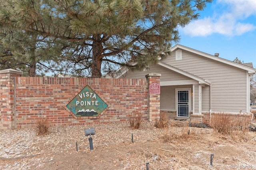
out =
[[(182, 50), (182, 60), (175, 61), (175, 51), (162, 62), (212, 82), (212, 111), (246, 112), (246, 71)], [(202, 87), (202, 111), (210, 109), (209, 90)], [(195, 101), (196, 102), (196, 101)]]

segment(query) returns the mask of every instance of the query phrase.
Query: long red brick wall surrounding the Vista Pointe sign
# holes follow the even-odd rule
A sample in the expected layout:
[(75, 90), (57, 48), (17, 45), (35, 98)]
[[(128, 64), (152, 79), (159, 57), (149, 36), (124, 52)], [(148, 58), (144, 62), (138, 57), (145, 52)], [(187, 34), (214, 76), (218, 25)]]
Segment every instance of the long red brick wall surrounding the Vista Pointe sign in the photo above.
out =
[[(0, 76), (6, 76), (1, 73)], [(136, 110), (143, 113), (143, 120), (150, 121), (157, 116), (148, 113), (149, 101), (154, 106), (160, 105), (160, 100), (149, 100), (148, 83), (155, 82), (159, 77), (146, 79), (104, 79), (104, 78), (59, 78), (59, 77), (19, 77), (12, 75), (12, 89), (6, 88), (10, 79), (1, 79), (0, 84), (0, 128), (29, 128), (34, 127), (40, 118), (48, 118), (52, 126), (58, 125), (84, 125), (93, 123), (111, 123), (129, 121), (129, 114)], [(11, 77), (12, 77), (11, 76)], [(155, 78), (155, 79), (154, 79)], [(158, 82), (158, 80), (157, 80)], [(159, 83), (159, 82), (158, 82)], [(86, 85), (108, 103), (108, 109), (98, 119), (76, 119), (66, 109), (66, 105)], [(5, 89), (3, 89), (3, 87)], [(4, 91), (10, 93), (4, 98)], [(156, 96), (154, 96), (156, 97)], [(158, 98), (159, 96), (157, 96)], [(10, 103), (6, 108), (5, 103)], [(7, 119), (8, 118), (8, 119)], [(11, 122), (11, 123), (10, 123)]]

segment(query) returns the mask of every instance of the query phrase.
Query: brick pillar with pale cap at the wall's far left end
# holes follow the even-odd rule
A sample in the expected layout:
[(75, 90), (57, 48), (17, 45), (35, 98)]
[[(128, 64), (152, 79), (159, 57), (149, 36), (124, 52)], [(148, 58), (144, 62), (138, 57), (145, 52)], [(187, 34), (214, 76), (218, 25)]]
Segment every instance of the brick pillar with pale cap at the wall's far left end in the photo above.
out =
[(14, 90), (15, 77), (20, 77), (23, 73), (14, 69), (0, 71), (0, 129), (14, 129), (15, 105)]

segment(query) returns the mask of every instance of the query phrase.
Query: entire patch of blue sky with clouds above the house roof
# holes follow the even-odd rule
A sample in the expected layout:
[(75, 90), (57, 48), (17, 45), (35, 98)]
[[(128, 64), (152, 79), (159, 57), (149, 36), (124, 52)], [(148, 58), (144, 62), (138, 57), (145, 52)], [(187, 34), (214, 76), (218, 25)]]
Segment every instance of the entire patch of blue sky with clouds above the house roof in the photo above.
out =
[(256, 0), (214, 0), (179, 32), (181, 45), (256, 67)]

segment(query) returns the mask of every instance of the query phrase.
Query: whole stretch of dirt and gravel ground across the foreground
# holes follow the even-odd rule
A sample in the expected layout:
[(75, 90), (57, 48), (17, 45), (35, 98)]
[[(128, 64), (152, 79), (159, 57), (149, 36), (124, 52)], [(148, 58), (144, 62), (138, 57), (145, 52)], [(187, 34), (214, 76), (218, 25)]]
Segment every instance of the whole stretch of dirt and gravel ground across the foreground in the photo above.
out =
[[(90, 150), (84, 129), (92, 127), (96, 134)], [(184, 130), (190, 131), (188, 138), (164, 141), (164, 134), (179, 136)], [(35, 128), (0, 133), (1, 170), (256, 169), (256, 132), (249, 132), (247, 140), (242, 140), (210, 128), (162, 129), (142, 123), (136, 130), (128, 123), (112, 123), (52, 127), (45, 136), (38, 136)]]

